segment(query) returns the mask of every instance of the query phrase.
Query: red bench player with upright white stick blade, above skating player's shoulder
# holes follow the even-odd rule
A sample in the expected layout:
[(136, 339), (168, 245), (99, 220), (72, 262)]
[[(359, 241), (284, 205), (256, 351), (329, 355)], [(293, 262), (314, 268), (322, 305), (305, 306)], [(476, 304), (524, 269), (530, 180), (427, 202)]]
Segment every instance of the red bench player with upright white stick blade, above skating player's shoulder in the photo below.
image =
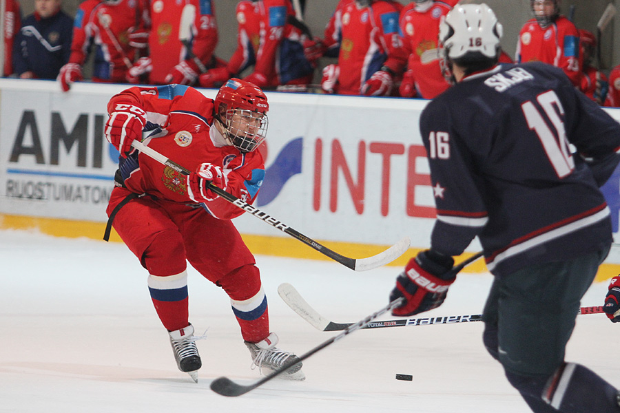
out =
[(225, 65), (214, 55), (218, 25), (212, 0), (151, 1), (149, 56), (130, 70), (130, 83), (194, 85)]

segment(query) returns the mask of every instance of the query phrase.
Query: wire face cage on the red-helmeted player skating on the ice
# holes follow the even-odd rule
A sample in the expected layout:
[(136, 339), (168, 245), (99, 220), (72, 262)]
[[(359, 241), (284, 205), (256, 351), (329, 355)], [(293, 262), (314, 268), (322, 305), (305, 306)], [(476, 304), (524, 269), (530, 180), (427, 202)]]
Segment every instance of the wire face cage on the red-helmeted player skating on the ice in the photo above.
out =
[(228, 109), (224, 121), (227, 139), (242, 152), (254, 151), (265, 140), (268, 124), (266, 114), (247, 109)]

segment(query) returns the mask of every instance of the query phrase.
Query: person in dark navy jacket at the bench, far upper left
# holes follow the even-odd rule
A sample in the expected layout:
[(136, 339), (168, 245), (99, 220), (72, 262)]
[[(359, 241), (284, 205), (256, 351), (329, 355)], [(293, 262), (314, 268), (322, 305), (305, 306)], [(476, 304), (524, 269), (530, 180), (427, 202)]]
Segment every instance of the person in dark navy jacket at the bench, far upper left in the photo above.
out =
[(73, 19), (61, 0), (34, 0), (13, 43), (13, 72), (20, 78), (55, 79), (71, 54)]

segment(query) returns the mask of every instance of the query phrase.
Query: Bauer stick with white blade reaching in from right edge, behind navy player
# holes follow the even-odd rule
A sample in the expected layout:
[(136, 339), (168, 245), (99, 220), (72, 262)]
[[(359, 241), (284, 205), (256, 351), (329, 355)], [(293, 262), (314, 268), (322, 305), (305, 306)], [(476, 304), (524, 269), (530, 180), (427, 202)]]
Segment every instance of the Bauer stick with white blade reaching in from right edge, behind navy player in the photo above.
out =
[[(314, 308), (307, 303), (306, 300), (298, 293), (291, 284), (280, 284), (278, 294), (287, 303), (289, 307), (295, 311), (302, 319), (306, 320), (311, 326), (321, 331), (340, 331), (351, 326), (352, 323), (336, 323), (329, 321), (320, 315)], [(601, 314), (602, 306), (581, 307), (579, 314)], [(620, 310), (616, 315), (620, 315)], [(441, 317), (420, 317), (409, 319), (395, 319), (384, 321), (373, 321), (365, 326), (367, 328), (385, 328), (385, 327), (408, 327), (408, 326), (429, 326), (431, 324), (458, 324), (469, 323), (471, 321), (482, 321), (482, 314), (471, 315), (444, 315)]]

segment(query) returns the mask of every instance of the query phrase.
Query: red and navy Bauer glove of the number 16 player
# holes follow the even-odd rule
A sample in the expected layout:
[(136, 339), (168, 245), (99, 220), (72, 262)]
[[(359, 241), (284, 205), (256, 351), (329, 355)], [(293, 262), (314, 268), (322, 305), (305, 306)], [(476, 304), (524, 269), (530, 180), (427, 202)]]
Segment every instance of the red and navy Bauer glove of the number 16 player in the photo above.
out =
[(449, 273), (453, 265), (452, 257), (433, 250), (422, 251), (409, 260), (390, 294), (390, 301), (398, 297), (405, 301), (392, 310), (392, 315), (410, 316), (441, 306), (448, 287), (456, 279), (455, 274)]

